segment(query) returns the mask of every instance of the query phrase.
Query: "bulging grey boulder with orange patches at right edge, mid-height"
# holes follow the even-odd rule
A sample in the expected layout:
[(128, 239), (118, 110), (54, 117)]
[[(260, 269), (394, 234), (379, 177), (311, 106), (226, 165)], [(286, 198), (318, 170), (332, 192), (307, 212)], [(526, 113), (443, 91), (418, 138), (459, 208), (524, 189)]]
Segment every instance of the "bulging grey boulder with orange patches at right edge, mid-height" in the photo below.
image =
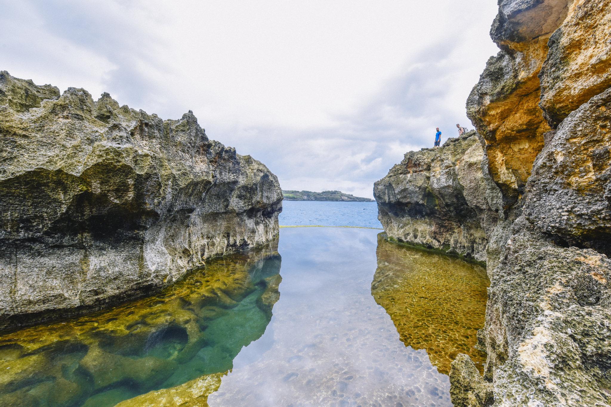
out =
[(568, 115), (549, 139), (527, 184), (526, 219), (558, 244), (611, 256), (611, 89)]

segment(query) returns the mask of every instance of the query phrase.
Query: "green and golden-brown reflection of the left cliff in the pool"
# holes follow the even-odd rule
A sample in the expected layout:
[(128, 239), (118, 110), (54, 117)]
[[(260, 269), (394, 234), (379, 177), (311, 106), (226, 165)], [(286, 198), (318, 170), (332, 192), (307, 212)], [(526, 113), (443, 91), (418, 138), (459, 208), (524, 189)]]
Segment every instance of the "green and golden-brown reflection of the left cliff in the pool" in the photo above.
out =
[(279, 298), (277, 243), (214, 259), (152, 297), (0, 333), (0, 405), (114, 406), (232, 369)]

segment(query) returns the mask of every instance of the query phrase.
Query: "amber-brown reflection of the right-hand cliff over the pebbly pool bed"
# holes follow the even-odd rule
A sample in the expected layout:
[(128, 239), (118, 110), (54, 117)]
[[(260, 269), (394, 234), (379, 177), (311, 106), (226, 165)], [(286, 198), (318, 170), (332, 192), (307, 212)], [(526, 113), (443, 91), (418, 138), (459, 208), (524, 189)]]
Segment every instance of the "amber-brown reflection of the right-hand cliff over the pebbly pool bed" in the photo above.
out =
[(426, 349), (431, 363), (448, 374), (458, 353), (483, 372), (486, 353), (474, 348), (486, 315), (484, 268), (461, 259), (391, 243), (378, 235), (378, 269), (371, 295), (395, 323), (401, 341)]

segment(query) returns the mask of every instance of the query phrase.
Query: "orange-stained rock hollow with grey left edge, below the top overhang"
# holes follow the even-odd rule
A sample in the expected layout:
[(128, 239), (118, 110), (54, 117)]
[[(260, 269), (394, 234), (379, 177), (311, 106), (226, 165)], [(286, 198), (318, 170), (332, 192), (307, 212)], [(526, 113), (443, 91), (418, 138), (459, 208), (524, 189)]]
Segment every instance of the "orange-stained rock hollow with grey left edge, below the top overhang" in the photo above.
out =
[(467, 116), (486, 140), (489, 171), (503, 192), (507, 209), (524, 192), (532, 163), (549, 131), (538, 106), (537, 77), (547, 51), (547, 39), (528, 43), (503, 41), (510, 52), (491, 57), (480, 82), (467, 99)]

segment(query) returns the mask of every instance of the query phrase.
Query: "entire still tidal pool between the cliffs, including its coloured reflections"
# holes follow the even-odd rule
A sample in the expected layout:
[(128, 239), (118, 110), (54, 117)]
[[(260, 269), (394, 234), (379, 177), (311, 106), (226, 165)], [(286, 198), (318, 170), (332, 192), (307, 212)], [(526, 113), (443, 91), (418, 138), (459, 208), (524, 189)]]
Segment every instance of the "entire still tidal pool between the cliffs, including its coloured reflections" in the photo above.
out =
[[(444, 304), (466, 297), (435, 294), (448, 287), (431, 270), (452, 274), (457, 263), (378, 232), (284, 228), (277, 248), (216, 259), (157, 295), (0, 333), (0, 405), (451, 406), (439, 355), (473, 355), (467, 339), (463, 347), (453, 338), (474, 335), (462, 327), (475, 329), (479, 317)], [(469, 281), (485, 292), (485, 280)], [(410, 325), (398, 304), (414, 282), (437, 298), (423, 318), (455, 315), (426, 319), (427, 333)], [(485, 308), (480, 301), (472, 309)], [(436, 330), (451, 340), (406, 340)]]

